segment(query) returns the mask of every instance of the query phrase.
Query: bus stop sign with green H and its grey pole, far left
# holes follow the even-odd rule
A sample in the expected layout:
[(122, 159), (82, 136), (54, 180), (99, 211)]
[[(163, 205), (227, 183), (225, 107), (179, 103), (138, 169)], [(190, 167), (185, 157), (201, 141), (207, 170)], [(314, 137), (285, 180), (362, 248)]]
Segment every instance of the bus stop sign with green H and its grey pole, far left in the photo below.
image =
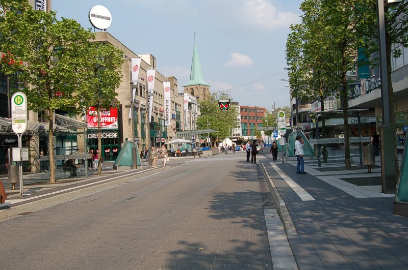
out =
[(23, 197), (22, 183), (22, 143), (21, 136), (27, 131), (27, 97), (22, 92), (16, 92), (11, 96), (11, 129), (18, 137), (18, 147), (20, 148), (20, 198)]

